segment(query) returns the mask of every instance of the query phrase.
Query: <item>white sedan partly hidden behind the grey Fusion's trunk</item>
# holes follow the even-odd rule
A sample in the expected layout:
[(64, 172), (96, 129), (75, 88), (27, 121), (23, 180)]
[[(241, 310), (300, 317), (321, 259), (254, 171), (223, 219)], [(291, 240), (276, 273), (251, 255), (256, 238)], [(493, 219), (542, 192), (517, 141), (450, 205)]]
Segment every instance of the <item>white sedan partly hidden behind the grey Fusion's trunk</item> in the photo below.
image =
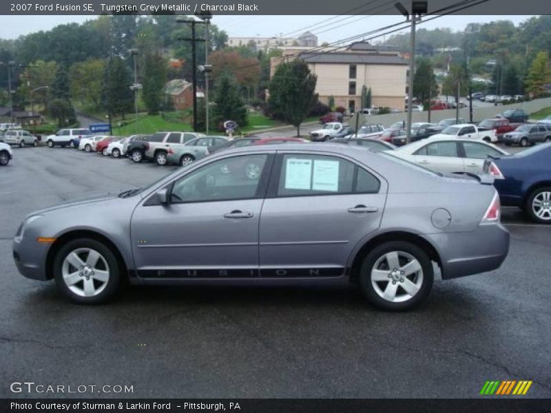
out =
[(388, 153), (441, 173), (483, 173), (488, 155), (510, 155), (490, 143), (453, 136), (430, 136)]

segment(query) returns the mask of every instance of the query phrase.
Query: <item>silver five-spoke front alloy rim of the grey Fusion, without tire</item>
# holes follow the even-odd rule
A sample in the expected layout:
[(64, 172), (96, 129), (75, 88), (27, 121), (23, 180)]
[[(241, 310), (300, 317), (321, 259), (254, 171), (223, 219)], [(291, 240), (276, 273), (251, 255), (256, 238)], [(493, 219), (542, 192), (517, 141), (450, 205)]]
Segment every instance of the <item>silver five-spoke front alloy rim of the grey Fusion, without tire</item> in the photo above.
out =
[(63, 282), (80, 297), (100, 294), (109, 282), (105, 257), (92, 248), (77, 248), (65, 257), (61, 267)]

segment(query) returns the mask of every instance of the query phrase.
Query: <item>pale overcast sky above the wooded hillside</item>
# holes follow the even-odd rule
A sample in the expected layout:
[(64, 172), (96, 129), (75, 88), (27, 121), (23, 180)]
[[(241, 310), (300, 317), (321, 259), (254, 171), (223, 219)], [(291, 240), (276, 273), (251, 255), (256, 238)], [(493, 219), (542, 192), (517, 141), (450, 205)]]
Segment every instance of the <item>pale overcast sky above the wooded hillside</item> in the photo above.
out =
[[(225, 30), (229, 36), (262, 36), (272, 37), (288, 35), (295, 36), (305, 30), (318, 35), (319, 42), (333, 42), (355, 36), (370, 30), (382, 28), (385, 25), (404, 21), (399, 16), (218, 16), (213, 23)], [(90, 16), (0, 16), (0, 39), (15, 39), (21, 34), (50, 30), (54, 26), (78, 22), (82, 23), (94, 17)], [(444, 16), (419, 28), (443, 28), (463, 30), (467, 23), (487, 23), (494, 20), (510, 20), (515, 25), (525, 21), (530, 16)], [(321, 23), (320, 23), (321, 22)], [(331, 24), (332, 23), (332, 24)], [(309, 27), (311, 26), (311, 27)], [(325, 26), (325, 27), (322, 27)], [(379, 39), (376, 39), (379, 40)], [(382, 38), (380, 39), (382, 40)]]

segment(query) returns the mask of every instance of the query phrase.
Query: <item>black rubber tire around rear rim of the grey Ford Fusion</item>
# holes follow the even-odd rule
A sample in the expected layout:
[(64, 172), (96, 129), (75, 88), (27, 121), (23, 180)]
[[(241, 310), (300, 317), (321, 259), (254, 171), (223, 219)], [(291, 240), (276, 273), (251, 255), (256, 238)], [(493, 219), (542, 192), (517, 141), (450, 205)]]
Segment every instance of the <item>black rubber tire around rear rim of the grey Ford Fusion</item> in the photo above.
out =
[[(377, 264), (377, 262), (380, 262), (380, 260), (384, 260), (384, 255), (393, 251), (399, 251), (402, 254), (406, 253), (415, 258), (415, 260), (417, 260), (417, 262), (421, 266), (422, 270), (422, 279), (418, 278), (419, 274), (404, 276), (397, 275), (397, 277), (404, 277), (404, 279), (407, 278), (410, 281), (413, 280), (414, 282), (420, 282), (417, 293), (415, 293), (409, 299), (404, 299), (404, 301), (400, 302), (388, 301), (387, 299), (381, 297), (377, 290), (375, 290), (375, 286), (373, 286), (373, 282), (371, 281), (371, 271), (375, 269), (375, 264)], [(404, 258), (402, 258), (402, 260), (404, 260)], [(402, 264), (402, 262), (399, 262), (399, 264)], [(384, 263), (377, 264), (377, 266), (380, 266), (381, 264)], [(388, 262), (386, 264), (388, 266)], [(389, 274), (391, 272), (391, 270), (388, 269), (385, 269), (383, 271), (389, 271)], [(388, 311), (410, 310), (411, 308), (415, 308), (415, 306), (421, 304), (421, 302), (424, 301), (424, 299), (426, 299), (426, 297), (430, 293), (430, 289), (433, 286), (433, 279), (433, 263), (430, 261), (428, 255), (422, 250), (422, 248), (419, 248), (419, 246), (402, 241), (390, 241), (376, 246), (366, 255), (360, 269), (360, 286), (362, 287), (362, 292), (373, 306)], [(381, 280), (380, 282), (375, 282), (375, 284), (377, 284), (378, 288), (382, 290), (383, 286), (386, 288), (386, 285), (390, 284), (391, 282), (393, 281), (391, 281), (391, 279), (389, 278), (388, 281)], [(397, 282), (394, 282), (395, 284), (398, 284), (395, 290), (396, 293), (406, 293), (406, 290), (404, 290), (404, 288), (402, 288), (402, 286), (400, 285), (401, 282), (402, 281), (400, 281), (400, 279)]]

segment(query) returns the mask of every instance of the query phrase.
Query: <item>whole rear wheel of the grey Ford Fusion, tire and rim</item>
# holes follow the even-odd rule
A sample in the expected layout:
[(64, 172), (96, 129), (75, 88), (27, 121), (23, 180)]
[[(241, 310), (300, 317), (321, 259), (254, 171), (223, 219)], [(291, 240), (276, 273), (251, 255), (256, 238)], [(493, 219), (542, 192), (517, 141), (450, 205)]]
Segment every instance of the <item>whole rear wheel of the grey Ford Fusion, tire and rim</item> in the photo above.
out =
[(360, 285), (368, 301), (391, 311), (419, 305), (433, 286), (433, 264), (415, 244), (385, 242), (366, 255)]

